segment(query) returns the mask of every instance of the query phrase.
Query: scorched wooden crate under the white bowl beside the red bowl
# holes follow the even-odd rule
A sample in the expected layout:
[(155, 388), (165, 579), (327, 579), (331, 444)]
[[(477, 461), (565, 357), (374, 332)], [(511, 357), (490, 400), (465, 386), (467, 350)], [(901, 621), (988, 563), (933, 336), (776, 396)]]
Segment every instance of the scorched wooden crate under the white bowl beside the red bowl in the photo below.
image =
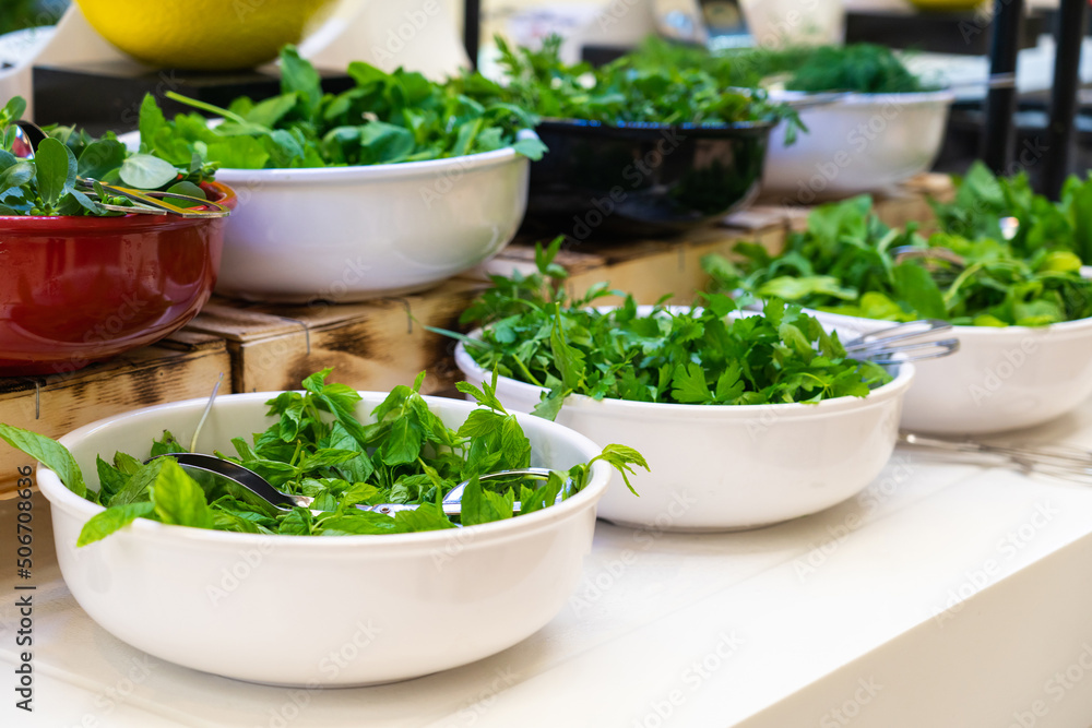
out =
[(224, 339), (236, 392), (298, 389), (308, 374), (333, 367), (331, 381), (359, 390), (411, 384), (428, 371), (424, 391), (450, 387), (458, 373), (452, 339), (425, 326), (453, 329), (484, 287), (456, 278), (438, 288), (364, 303), (273, 306), (214, 298), (187, 331)]

